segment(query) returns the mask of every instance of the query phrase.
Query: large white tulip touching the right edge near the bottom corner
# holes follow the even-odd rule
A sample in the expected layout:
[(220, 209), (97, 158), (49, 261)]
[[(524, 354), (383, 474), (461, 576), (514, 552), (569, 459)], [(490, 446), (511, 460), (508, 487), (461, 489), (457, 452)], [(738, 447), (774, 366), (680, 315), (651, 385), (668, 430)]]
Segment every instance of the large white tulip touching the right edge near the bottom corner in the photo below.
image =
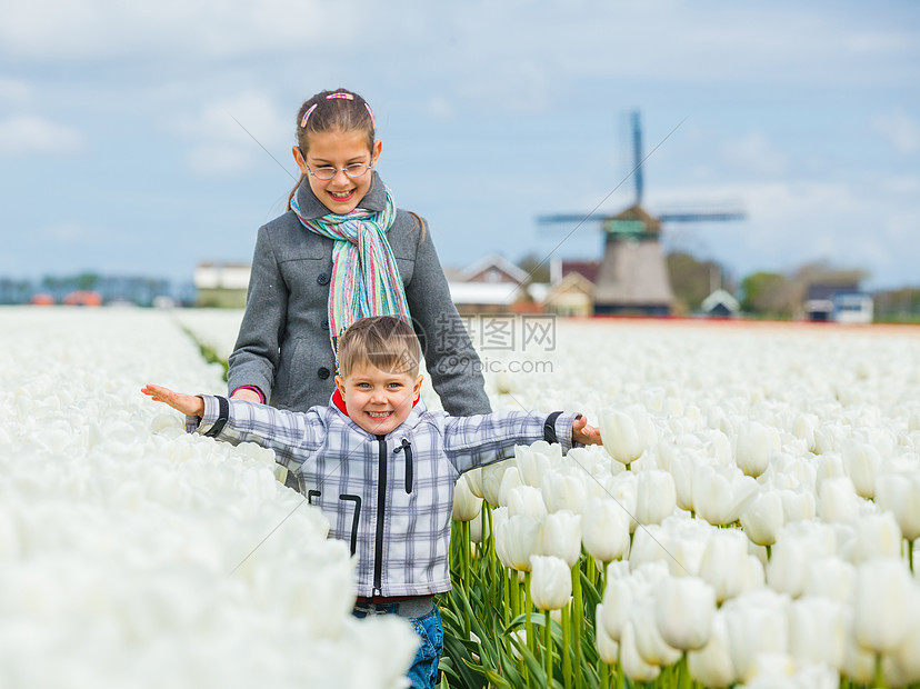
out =
[(888, 653), (908, 637), (917, 615), (916, 591), (901, 560), (869, 560), (857, 570), (853, 629), (859, 645), (874, 653)]

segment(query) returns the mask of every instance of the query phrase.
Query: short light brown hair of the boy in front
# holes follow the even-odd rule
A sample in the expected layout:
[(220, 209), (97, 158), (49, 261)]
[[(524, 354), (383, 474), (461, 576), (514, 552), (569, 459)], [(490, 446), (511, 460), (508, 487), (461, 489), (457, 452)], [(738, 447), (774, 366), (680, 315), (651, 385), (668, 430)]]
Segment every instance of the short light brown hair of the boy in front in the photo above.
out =
[(410, 326), (392, 316), (362, 318), (338, 341), (339, 375), (347, 378), (356, 366), (370, 363), (381, 371), (418, 376), (419, 339)]

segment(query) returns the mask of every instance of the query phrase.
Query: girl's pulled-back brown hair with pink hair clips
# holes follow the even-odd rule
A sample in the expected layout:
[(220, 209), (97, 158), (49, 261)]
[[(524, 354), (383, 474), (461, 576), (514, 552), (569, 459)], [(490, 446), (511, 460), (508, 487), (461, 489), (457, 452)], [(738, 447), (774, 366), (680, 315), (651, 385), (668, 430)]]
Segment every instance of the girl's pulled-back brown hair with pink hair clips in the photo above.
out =
[[(307, 158), (310, 148), (310, 134), (324, 131), (360, 131), (368, 138), (368, 150), (373, 150), (374, 140), (373, 112), (363, 98), (348, 89), (320, 91), (312, 98), (303, 101), (297, 111), (297, 146), (300, 153)], [(291, 199), (303, 182), (306, 172), (288, 196), (288, 210), (291, 210)]]

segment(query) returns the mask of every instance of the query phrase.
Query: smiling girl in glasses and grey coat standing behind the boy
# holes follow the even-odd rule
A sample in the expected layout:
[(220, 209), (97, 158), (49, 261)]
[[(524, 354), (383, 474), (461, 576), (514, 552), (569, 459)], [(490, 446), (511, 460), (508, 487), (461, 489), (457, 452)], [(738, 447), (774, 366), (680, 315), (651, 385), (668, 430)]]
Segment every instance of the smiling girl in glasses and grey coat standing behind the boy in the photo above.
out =
[(328, 403), (338, 336), (390, 314), (412, 324), (449, 413), (491, 410), (427, 223), (396, 208), (374, 169), (381, 149), (358, 93), (322, 91), (300, 107), (291, 150), (301, 177), (288, 212), (259, 230), (229, 360), (233, 399), (298, 411)]

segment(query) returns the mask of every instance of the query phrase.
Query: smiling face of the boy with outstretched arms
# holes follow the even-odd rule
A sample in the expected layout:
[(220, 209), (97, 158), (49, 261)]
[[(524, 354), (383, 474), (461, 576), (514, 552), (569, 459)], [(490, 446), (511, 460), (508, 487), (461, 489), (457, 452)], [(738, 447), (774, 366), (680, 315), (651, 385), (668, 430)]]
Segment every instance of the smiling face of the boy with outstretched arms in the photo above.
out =
[(336, 376), (348, 416), (369, 433), (386, 436), (412, 411), (421, 390), (421, 376), (383, 371), (368, 362), (356, 362), (351, 372)]

